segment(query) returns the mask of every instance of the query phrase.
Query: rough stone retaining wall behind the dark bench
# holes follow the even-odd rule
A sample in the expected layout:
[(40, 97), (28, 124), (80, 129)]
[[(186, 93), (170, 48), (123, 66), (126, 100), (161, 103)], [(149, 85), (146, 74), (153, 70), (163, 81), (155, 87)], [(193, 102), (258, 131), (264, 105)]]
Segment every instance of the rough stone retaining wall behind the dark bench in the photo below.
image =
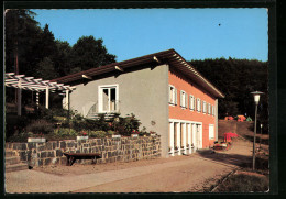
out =
[[(6, 143), (6, 148), (16, 152), (21, 161), (32, 167), (51, 164), (66, 164), (64, 152), (99, 153), (102, 158), (97, 164), (129, 162), (161, 157), (161, 137), (140, 136), (120, 139), (65, 140), (46, 143)], [(76, 163), (92, 163), (92, 159), (77, 159)]]

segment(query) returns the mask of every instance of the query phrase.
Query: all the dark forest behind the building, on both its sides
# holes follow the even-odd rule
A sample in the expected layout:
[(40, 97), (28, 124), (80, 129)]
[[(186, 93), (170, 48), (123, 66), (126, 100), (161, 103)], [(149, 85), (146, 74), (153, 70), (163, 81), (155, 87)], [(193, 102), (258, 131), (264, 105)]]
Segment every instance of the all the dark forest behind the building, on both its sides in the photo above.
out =
[[(55, 40), (48, 24), (42, 29), (34, 16), (30, 10), (6, 11), (6, 73), (54, 79), (116, 62), (117, 56), (108, 53), (102, 38), (81, 36), (70, 46), (68, 42)], [(264, 92), (258, 106), (260, 120), (267, 122), (267, 62), (222, 57), (190, 60), (189, 64), (226, 95), (224, 99), (219, 99), (219, 118), (237, 114), (254, 118), (254, 101), (250, 92), (258, 90)], [(7, 89), (7, 100), (13, 101), (13, 93)]]

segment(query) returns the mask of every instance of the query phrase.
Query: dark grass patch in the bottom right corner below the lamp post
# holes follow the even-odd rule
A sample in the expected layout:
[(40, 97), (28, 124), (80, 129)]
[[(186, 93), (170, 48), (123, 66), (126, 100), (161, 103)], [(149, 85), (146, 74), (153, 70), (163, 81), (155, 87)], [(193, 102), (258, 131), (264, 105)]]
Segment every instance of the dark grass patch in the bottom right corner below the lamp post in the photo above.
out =
[(217, 187), (216, 192), (265, 192), (268, 188), (267, 175), (233, 174)]

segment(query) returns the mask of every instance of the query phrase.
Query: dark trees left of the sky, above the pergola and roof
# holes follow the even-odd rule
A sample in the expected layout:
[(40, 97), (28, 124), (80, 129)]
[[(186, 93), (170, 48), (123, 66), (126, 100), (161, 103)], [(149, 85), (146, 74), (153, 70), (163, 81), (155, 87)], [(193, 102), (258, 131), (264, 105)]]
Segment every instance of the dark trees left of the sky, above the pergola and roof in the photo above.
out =
[(102, 38), (82, 36), (72, 47), (55, 40), (48, 24), (41, 29), (34, 16), (34, 12), (25, 9), (6, 11), (7, 71), (15, 71), (15, 56), (19, 74), (45, 79), (116, 62), (116, 55), (108, 53)]

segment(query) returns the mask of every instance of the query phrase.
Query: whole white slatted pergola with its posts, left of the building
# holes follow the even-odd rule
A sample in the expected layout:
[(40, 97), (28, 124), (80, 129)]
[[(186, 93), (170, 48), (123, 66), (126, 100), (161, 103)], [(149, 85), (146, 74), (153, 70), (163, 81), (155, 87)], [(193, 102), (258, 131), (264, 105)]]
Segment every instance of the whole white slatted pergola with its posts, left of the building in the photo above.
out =
[(51, 82), (50, 80), (43, 80), (42, 78), (35, 79), (34, 77), (25, 77), (24, 75), (15, 75), (14, 73), (6, 73), (4, 84), (7, 87), (13, 87), (18, 89), (18, 115), (22, 112), (22, 89), (36, 91), (36, 106), (38, 107), (38, 93), (45, 92), (45, 107), (48, 109), (50, 90), (62, 91), (62, 95), (66, 96), (65, 108), (69, 109), (69, 91), (75, 90), (76, 87), (69, 85)]

